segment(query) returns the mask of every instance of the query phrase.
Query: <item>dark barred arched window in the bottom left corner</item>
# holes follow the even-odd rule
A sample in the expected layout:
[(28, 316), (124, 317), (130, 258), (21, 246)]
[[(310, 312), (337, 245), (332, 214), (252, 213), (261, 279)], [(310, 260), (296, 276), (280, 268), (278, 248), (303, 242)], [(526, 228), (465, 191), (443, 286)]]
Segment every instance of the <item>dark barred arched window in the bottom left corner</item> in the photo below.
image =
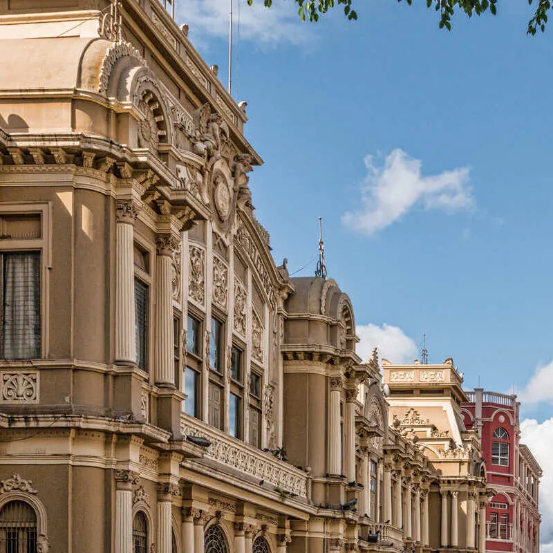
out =
[(25, 501), (10, 501), (0, 511), (0, 551), (36, 553), (37, 514)]

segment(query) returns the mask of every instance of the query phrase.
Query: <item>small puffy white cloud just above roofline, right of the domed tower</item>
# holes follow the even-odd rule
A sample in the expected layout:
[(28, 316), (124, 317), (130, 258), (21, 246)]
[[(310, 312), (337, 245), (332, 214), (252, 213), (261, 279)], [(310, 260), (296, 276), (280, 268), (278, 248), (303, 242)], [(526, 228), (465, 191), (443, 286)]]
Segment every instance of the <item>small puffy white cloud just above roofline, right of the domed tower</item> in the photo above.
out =
[(359, 336), (357, 355), (364, 361), (371, 357), (373, 348), (378, 348), (378, 355), (388, 359), (394, 364), (411, 363), (418, 356), (415, 341), (404, 335), (401, 328), (384, 323), (382, 326), (375, 324), (356, 325), (355, 330)]

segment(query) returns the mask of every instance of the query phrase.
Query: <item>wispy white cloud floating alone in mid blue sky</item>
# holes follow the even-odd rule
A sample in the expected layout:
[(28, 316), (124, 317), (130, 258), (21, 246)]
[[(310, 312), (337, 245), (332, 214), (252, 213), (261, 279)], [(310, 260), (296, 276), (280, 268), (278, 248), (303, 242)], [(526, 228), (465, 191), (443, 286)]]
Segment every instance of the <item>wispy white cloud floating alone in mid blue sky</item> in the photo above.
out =
[(384, 167), (377, 167), (373, 156), (364, 162), (368, 174), (361, 187), (361, 208), (341, 218), (343, 225), (357, 232), (373, 234), (415, 207), (447, 213), (474, 207), (466, 167), (422, 176), (422, 162), (399, 148), (386, 156)]

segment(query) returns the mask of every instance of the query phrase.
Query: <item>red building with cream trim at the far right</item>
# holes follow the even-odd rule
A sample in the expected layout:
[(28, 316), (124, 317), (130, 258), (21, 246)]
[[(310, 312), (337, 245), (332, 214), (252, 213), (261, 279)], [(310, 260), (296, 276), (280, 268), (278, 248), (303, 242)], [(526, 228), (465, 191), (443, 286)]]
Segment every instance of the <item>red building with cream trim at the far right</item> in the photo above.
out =
[(538, 553), (538, 487), (542, 471), (520, 443), (516, 395), (467, 392), (462, 404), (467, 429), (482, 439), (487, 481), (496, 491), (487, 505), (487, 552)]

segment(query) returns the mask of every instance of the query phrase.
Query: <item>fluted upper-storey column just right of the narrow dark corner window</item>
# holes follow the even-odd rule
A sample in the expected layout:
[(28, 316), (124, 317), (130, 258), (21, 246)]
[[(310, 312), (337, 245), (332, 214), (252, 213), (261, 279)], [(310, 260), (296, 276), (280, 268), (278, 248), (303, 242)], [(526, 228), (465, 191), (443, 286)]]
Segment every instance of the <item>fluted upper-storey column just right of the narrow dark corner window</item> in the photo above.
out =
[(156, 243), (156, 384), (175, 384), (173, 354), (173, 275), (171, 263), (178, 242), (170, 234), (160, 234)]

